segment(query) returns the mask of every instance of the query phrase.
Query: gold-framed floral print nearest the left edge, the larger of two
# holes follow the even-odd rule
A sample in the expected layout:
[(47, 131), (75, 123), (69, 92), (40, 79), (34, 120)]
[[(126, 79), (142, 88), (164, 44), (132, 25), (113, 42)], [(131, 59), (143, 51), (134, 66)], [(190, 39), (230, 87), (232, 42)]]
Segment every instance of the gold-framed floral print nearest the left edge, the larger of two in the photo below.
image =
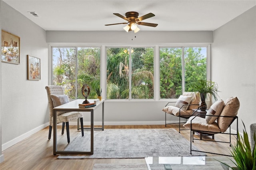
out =
[(20, 37), (2, 30), (2, 62), (20, 64)]

